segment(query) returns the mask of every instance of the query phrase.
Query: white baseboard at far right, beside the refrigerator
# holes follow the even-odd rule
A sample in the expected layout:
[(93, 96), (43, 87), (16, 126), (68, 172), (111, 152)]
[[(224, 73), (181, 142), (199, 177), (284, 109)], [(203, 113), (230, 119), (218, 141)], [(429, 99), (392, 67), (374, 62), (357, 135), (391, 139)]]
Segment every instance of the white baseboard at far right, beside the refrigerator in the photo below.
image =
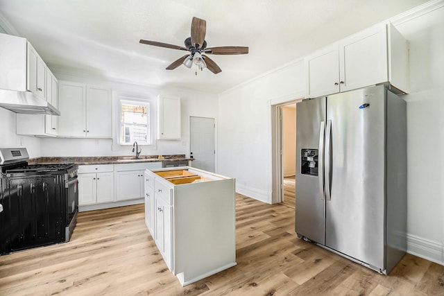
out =
[(407, 234), (407, 253), (444, 265), (442, 243)]

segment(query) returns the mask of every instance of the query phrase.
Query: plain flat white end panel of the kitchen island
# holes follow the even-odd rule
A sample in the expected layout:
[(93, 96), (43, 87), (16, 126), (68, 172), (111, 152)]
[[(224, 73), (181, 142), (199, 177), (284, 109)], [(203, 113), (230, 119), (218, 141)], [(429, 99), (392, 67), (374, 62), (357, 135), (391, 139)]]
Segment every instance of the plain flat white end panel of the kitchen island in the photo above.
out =
[(182, 286), (236, 265), (233, 179), (177, 186), (174, 209), (174, 273)]

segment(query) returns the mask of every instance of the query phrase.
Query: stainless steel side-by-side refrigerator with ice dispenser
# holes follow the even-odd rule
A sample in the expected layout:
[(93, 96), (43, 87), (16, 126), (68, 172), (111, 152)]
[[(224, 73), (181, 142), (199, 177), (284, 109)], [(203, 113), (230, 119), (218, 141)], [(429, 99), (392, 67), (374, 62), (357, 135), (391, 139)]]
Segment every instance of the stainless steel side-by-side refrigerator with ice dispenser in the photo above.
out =
[(296, 234), (388, 274), (407, 249), (406, 102), (384, 85), (296, 107)]

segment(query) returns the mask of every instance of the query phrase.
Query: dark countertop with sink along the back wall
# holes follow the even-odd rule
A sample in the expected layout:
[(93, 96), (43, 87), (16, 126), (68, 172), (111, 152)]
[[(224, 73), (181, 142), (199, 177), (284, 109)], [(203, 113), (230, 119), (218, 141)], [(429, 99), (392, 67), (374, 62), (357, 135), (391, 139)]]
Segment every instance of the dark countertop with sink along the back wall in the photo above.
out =
[(180, 155), (163, 155), (163, 159), (158, 158), (159, 155), (140, 155), (139, 159), (131, 156), (86, 156), (86, 157), (37, 157), (29, 159), (28, 164), (68, 164), (74, 163), (79, 166), (88, 164), (137, 164), (139, 162), (176, 162), (183, 160), (191, 160), (194, 158), (186, 158), (185, 154)]

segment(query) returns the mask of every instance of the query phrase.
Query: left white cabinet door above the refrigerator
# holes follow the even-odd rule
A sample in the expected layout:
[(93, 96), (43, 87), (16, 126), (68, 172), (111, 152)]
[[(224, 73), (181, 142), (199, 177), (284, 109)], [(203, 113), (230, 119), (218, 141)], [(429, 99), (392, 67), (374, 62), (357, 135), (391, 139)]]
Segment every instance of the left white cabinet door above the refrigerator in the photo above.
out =
[(316, 98), (339, 92), (339, 48), (328, 46), (304, 59), (305, 97)]

